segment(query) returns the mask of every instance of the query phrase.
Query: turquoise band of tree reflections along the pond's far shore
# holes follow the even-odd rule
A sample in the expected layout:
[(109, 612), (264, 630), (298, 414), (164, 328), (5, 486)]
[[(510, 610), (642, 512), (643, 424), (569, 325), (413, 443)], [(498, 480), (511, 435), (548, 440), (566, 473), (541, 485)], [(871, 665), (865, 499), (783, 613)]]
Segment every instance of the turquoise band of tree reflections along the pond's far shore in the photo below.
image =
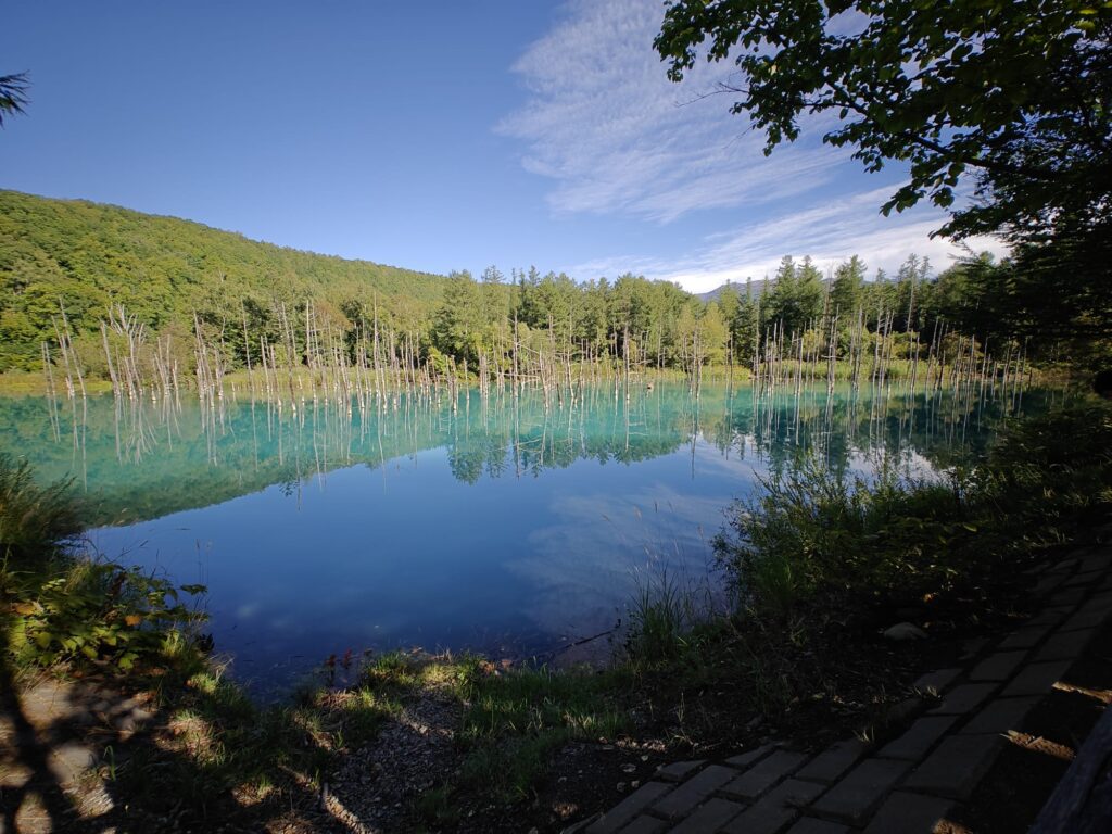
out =
[[(1044, 397), (852, 396), (821, 389), (754, 396), (748, 386), (706, 387), (696, 400), (684, 385), (587, 389), (574, 405), (524, 391), (479, 396), (399, 396), (389, 408), (360, 409), (334, 399), (298, 408), (228, 400), (214, 407), (93, 398), (51, 410), (44, 399), (0, 403), (4, 445), (36, 461), (46, 479), (77, 476), (89, 485), (89, 523), (121, 524), (220, 503), (274, 484), (292, 494), (337, 468), (414, 458), (445, 447), (460, 481), (537, 477), (579, 459), (633, 464), (699, 439), (727, 457), (783, 470), (818, 455), (842, 470), (883, 456), (936, 467), (967, 459), (999, 420), (1040, 408)], [(69, 414), (66, 414), (66, 411)]]

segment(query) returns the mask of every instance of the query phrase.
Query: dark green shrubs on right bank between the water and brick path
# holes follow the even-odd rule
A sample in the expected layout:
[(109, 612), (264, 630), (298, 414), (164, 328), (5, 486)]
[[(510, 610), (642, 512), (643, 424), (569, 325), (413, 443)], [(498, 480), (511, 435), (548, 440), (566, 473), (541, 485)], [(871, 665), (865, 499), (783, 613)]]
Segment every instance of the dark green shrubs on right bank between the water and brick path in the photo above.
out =
[(992, 569), (1112, 508), (1112, 408), (1016, 421), (971, 473), (875, 480), (807, 460), (762, 481), (715, 552), (743, 605), (787, 615), (815, 599), (903, 604)]

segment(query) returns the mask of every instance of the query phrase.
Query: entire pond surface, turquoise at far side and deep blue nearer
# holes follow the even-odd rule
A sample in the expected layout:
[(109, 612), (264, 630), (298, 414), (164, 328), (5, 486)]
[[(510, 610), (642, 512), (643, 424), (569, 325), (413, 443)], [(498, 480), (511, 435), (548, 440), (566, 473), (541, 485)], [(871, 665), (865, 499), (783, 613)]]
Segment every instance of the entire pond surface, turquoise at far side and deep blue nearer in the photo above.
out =
[(21, 398), (0, 399), (0, 449), (75, 479), (100, 553), (207, 585), (217, 651), (272, 688), (348, 648), (520, 655), (608, 629), (664, 570), (714, 588), (708, 543), (770, 470), (816, 453), (927, 473), (1002, 408), (683, 385), (547, 409), (476, 391), (369, 413)]

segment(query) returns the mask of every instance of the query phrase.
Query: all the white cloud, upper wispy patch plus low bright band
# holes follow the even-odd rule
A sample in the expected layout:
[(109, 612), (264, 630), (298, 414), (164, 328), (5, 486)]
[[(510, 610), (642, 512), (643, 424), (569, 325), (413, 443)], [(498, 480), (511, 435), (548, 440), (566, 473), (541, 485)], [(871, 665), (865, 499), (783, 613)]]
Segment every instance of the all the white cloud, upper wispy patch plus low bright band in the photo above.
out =
[[(731, 219), (678, 256), (614, 254), (566, 271), (632, 271), (705, 291), (771, 275), (784, 255), (811, 255), (825, 269), (856, 254), (874, 270), (893, 270), (911, 252), (939, 269), (962, 254), (930, 237), (944, 221), (936, 209), (878, 214), (895, 187), (877, 189), (848, 149), (822, 145), (831, 113), (805, 118), (801, 140), (765, 157), (763, 133), (731, 116), (727, 98), (705, 95), (726, 77), (728, 61), (698, 61), (684, 83), (667, 80), (652, 49), (661, 20), (657, 0), (570, 0), (514, 66), (529, 97), (498, 130), (523, 141), (528, 170), (552, 179), (547, 199), (557, 211), (667, 224), (712, 210), (712, 224), (716, 209)], [(840, 24), (853, 30), (861, 21), (850, 16)], [(1004, 251), (987, 239), (969, 245)]]

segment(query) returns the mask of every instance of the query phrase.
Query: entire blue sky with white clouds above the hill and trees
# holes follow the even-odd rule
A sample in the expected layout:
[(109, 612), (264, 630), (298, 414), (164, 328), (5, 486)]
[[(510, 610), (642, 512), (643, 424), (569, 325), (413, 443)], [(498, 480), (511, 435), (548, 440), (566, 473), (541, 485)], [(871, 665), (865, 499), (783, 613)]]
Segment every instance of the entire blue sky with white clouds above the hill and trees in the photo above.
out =
[(702, 97), (728, 67), (668, 82), (662, 8), (17, 4), (0, 73), (28, 71), (32, 101), (0, 132), (0, 187), (435, 272), (633, 271), (703, 291), (783, 255), (951, 262), (929, 239), (941, 212), (877, 214), (898, 169), (863, 172), (821, 123), (765, 158), (729, 99)]

